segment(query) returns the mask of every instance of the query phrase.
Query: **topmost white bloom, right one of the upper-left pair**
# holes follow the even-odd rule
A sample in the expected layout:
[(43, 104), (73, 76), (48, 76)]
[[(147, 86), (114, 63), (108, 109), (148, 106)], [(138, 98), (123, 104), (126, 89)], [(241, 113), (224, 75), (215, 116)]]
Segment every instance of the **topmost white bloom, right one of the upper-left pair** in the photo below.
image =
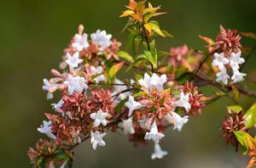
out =
[(102, 48), (108, 48), (111, 44), (110, 39), (112, 38), (112, 35), (107, 35), (106, 31), (97, 30), (90, 35), (90, 38), (92, 42), (95, 42)]

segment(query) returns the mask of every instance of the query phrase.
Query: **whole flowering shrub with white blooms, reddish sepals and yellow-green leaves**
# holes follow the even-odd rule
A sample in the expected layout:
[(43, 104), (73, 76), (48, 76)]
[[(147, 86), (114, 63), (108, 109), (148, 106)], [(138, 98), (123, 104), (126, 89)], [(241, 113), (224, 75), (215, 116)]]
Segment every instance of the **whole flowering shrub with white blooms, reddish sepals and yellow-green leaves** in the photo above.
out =
[[(165, 14), (146, 1), (130, 0), (120, 17), (129, 18), (125, 30), (130, 32), (130, 50), (120, 49), (121, 42), (107, 31), (78, 34), (64, 49), (59, 70), (51, 70), (52, 78), (44, 79), (47, 98), (61, 92), (60, 101), (52, 104), (54, 114), (38, 127), (49, 137), (40, 139), (28, 156), (38, 167), (72, 167), (73, 149), (90, 139), (92, 148), (107, 144), (107, 132), (122, 130), (137, 145), (154, 143), (151, 159), (161, 159), (167, 152), (160, 148), (170, 126), (181, 132), (190, 116), (202, 114), (202, 108), (223, 96), (236, 105), (228, 106), (223, 122), (223, 137), (236, 151), (241, 147), (256, 165), (256, 139), (248, 133), (256, 123), (256, 104), (247, 112), (238, 105), (240, 93), (256, 98), (256, 93), (238, 82), (247, 76), (242, 67), (253, 53), (241, 46), (241, 36), (255, 38), (253, 33), (225, 30), (214, 42), (207, 42), (207, 51), (187, 45), (163, 52), (156, 48), (155, 36), (172, 37), (153, 20)], [(245, 55), (243, 59), (241, 55)], [(121, 76), (120, 74), (131, 75)], [(216, 76), (216, 78), (214, 77)], [(213, 80), (212, 80), (213, 79)], [(205, 96), (198, 87), (212, 85), (219, 92)]]

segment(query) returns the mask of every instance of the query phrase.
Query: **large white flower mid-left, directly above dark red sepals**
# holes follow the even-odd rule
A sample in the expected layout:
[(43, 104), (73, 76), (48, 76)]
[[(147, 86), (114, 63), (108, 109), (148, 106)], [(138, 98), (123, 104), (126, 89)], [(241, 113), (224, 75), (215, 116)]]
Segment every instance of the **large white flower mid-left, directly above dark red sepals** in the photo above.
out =
[(83, 92), (84, 89), (87, 89), (87, 85), (85, 83), (84, 77), (80, 76), (71, 76), (70, 74), (67, 76), (67, 81), (64, 81), (64, 84), (68, 87), (67, 91), (71, 95), (73, 92)]

